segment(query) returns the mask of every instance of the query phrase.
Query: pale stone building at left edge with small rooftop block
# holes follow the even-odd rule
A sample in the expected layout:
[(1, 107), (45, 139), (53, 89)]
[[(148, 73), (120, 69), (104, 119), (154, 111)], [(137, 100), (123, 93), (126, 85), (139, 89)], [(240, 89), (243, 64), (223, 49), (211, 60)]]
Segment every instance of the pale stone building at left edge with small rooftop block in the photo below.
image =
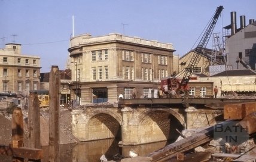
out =
[(22, 45), (7, 43), (0, 49), (0, 92), (37, 90), (40, 68), (40, 57), (22, 55)]

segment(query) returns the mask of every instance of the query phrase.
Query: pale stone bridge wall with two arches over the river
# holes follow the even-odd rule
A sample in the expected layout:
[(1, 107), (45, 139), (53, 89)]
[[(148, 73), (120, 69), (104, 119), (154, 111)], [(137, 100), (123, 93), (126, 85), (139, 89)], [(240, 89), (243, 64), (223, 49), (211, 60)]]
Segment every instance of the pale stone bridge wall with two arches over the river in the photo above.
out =
[(120, 144), (139, 145), (175, 140), (176, 129), (215, 124), (220, 110), (172, 107), (104, 107), (72, 110), (72, 132), (80, 141), (120, 138)]

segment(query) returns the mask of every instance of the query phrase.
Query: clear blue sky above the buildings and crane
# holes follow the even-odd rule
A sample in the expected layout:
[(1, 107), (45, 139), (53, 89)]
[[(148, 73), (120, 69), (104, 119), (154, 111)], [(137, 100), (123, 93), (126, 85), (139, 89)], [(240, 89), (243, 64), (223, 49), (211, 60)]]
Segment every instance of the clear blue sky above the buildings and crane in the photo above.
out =
[[(256, 20), (255, 0), (0, 0), (0, 48), (22, 44), (22, 54), (41, 58), (41, 73), (66, 68), (69, 39), (120, 33), (172, 43), (182, 56), (195, 48), (218, 6), (224, 10), (213, 33), (230, 24), (230, 12)], [(16, 36), (13, 36), (16, 35)], [(208, 48), (212, 48), (212, 38)]]

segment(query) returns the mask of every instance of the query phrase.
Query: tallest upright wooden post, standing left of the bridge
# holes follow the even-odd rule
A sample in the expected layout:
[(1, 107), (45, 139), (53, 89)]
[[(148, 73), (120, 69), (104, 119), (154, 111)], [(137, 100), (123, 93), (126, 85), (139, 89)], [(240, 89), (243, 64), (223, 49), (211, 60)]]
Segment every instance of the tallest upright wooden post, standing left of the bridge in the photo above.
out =
[(59, 162), (60, 130), (60, 72), (58, 66), (51, 66), (49, 105), (49, 162)]

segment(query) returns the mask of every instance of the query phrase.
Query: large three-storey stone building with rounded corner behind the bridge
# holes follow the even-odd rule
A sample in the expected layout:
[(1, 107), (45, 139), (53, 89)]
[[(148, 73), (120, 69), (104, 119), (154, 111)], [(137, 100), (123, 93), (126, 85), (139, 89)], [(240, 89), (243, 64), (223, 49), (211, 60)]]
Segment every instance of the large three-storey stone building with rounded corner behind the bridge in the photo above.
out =
[(173, 45), (118, 33), (71, 38), (72, 99), (80, 104), (141, 98), (173, 73)]

